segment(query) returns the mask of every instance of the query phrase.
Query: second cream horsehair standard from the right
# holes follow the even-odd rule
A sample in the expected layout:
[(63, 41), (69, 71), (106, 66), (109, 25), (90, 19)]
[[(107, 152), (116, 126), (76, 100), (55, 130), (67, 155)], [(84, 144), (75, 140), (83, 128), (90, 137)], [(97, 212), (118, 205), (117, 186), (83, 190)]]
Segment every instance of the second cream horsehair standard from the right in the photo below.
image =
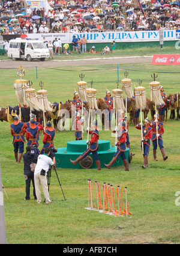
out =
[(146, 89), (145, 87), (135, 87), (135, 96), (136, 96), (136, 108), (145, 109), (146, 108)]

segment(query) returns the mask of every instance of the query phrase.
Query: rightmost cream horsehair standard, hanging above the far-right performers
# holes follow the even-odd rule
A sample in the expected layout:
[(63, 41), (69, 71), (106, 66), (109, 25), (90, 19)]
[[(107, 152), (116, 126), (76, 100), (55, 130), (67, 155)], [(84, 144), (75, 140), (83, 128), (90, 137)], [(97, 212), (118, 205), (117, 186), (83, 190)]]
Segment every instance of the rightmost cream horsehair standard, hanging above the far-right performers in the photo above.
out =
[(160, 82), (153, 81), (149, 83), (150, 85), (150, 95), (151, 95), (151, 101), (153, 101), (157, 105), (163, 105), (163, 99), (161, 97), (160, 92)]

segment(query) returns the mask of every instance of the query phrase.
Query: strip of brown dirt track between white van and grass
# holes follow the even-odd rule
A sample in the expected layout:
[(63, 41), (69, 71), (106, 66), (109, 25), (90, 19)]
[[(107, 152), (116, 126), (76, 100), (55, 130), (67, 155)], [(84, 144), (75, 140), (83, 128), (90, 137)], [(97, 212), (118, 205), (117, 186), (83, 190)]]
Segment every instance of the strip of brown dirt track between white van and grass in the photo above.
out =
[(31, 67), (66, 67), (66, 66), (86, 66), (86, 65), (106, 65), (106, 64), (151, 64), (152, 56), (142, 57), (116, 57), (116, 58), (103, 58), (103, 59), (68, 59), (66, 60), (32, 60), (28, 61), (0, 61), (0, 69), (17, 69), (17, 67), (23, 66), (25, 68)]

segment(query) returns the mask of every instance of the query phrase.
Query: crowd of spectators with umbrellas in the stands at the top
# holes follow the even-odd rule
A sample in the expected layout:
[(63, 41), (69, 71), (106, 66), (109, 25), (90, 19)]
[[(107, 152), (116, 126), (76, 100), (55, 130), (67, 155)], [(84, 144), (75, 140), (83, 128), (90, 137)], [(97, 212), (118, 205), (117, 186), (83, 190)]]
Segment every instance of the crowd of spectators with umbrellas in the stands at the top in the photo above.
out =
[(179, 29), (179, 1), (49, 0), (50, 8), (25, 8), (0, 0), (1, 34)]

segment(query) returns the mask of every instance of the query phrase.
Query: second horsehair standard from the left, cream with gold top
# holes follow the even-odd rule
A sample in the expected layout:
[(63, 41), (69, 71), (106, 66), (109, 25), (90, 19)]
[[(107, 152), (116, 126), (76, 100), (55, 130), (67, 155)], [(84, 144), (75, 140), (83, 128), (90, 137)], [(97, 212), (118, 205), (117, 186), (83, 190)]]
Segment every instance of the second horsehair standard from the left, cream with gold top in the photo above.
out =
[(32, 111), (33, 110), (40, 111), (41, 106), (35, 94), (35, 89), (29, 88), (25, 90), (25, 95), (26, 95), (26, 102), (28, 103), (27, 105), (29, 105)]

